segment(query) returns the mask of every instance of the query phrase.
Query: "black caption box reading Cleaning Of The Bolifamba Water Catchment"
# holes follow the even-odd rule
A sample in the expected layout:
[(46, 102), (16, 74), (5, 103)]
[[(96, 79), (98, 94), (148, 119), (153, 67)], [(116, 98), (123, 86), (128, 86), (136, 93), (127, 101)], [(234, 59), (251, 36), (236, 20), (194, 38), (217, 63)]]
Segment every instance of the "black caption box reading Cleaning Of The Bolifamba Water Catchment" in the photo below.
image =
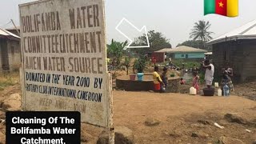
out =
[(6, 112), (6, 144), (80, 144), (79, 112)]

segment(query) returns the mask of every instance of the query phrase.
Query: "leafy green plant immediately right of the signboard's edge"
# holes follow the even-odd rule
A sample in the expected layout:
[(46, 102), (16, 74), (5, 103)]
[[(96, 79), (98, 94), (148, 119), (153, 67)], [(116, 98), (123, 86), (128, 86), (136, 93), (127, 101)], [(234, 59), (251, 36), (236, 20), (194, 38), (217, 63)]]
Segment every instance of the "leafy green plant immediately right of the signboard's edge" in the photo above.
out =
[(107, 45), (107, 57), (110, 58), (112, 66), (120, 66), (122, 56), (125, 53), (124, 47), (127, 46), (126, 42), (116, 42), (112, 39), (110, 45)]

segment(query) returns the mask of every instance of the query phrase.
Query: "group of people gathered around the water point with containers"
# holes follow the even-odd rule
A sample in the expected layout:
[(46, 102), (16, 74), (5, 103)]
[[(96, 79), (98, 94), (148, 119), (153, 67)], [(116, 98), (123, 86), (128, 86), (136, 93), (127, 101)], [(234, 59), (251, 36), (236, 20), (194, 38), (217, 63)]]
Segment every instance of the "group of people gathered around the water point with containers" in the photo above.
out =
[[(211, 88), (214, 80), (214, 65), (209, 61), (205, 60), (202, 62), (202, 68), (206, 70), (205, 73), (205, 82), (207, 88)], [(154, 91), (155, 92), (165, 92), (167, 90), (167, 85), (168, 85), (168, 78), (167, 78), (167, 68), (163, 68), (162, 74), (158, 74), (159, 67), (154, 66), (154, 73), (153, 73), (153, 78), (154, 78)], [(192, 73), (193, 73), (193, 82), (192, 86), (197, 90), (197, 94), (199, 91), (199, 76), (198, 76), (198, 67), (195, 65), (192, 68)], [(230, 66), (227, 64), (225, 68), (222, 69), (223, 74), (222, 74), (222, 87), (224, 85), (228, 85), (230, 87), (231, 91), (234, 91), (234, 86), (231, 80), (231, 77), (233, 76), (233, 69), (230, 68)], [(185, 81), (183, 78), (180, 79), (180, 84), (185, 84)]]

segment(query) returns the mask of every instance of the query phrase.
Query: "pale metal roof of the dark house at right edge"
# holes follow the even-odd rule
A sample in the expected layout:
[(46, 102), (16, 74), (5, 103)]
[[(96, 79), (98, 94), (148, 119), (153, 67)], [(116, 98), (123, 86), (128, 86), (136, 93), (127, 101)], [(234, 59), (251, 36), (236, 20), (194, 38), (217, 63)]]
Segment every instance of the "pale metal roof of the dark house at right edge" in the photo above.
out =
[(214, 38), (207, 42), (208, 45), (212, 45), (219, 42), (233, 41), (238, 39), (256, 39), (256, 19), (248, 22), (237, 29), (231, 30), (226, 34)]

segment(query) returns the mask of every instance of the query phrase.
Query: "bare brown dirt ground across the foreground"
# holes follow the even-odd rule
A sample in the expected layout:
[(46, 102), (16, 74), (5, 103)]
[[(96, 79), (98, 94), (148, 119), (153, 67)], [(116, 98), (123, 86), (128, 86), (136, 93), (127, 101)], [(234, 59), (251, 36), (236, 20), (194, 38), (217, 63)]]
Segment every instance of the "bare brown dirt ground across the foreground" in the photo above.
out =
[[(0, 91), (0, 102), (10, 94), (21, 94), (20, 86), (8, 86)], [(155, 94), (150, 92), (114, 91), (114, 126), (126, 126), (134, 131), (135, 143), (214, 143), (221, 136), (238, 138), (245, 143), (256, 140), (256, 126), (230, 123), (227, 113), (236, 113), (256, 122), (256, 102), (235, 95), (229, 98), (190, 96), (188, 94)], [(4, 118), (0, 109), (0, 118)], [(156, 118), (158, 126), (146, 126), (146, 118)], [(210, 122), (209, 125), (198, 120)], [(225, 128), (213, 125), (218, 122)], [(251, 130), (250, 133), (246, 130)], [(5, 133), (5, 125), (0, 124)], [(96, 143), (102, 128), (82, 124), (82, 142)], [(192, 133), (199, 138), (191, 137)], [(1, 142), (0, 142), (1, 143)]]

